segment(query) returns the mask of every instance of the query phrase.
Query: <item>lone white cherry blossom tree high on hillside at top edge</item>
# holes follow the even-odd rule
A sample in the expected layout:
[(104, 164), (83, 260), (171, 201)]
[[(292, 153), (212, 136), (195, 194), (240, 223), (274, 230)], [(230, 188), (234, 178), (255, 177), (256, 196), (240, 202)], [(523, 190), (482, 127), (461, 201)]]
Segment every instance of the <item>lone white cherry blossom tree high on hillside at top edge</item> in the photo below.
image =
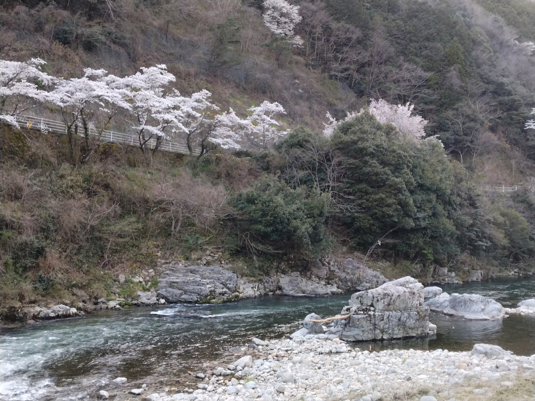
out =
[(288, 38), (293, 45), (303, 44), (301, 37), (294, 32), (295, 25), (302, 19), (298, 5), (292, 5), (286, 0), (265, 0), (264, 8), (264, 24), (272, 33)]

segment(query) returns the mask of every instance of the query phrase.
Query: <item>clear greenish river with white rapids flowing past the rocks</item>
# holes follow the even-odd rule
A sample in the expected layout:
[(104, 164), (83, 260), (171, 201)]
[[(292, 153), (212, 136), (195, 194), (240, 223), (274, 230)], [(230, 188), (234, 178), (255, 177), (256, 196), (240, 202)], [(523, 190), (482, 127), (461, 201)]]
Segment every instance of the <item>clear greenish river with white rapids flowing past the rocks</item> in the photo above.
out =
[[(535, 280), (499, 280), (444, 289), (450, 294), (481, 294), (514, 307), (535, 297)], [(178, 386), (187, 371), (198, 371), (207, 361), (232, 352), (231, 347), (244, 346), (251, 337), (287, 336), (300, 328), (308, 313), (332, 316), (348, 298), (348, 294), (266, 297), (223, 305), (135, 308), (3, 329), (0, 400), (94, 399), (96, 389), (119, 376), (127, 377), (129, 385), (150, 383), (155, 390)], [(432, 313), (430, 320), (438, 326), (435, 337), (355, 346), (464, 351), (483, 342), (517, 354), (535, 354), (535, 315), (470, 321)]]

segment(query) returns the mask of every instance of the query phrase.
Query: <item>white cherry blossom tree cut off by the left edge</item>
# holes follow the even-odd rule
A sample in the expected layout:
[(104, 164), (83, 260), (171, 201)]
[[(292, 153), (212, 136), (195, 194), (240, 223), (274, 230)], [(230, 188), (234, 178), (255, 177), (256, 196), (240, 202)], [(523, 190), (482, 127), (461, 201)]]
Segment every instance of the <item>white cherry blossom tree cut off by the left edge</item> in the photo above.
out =
[(40, 58), (0, 60), (0, 121), (18, 127), (20, 114), (52, 99), (46, 88), (56, 79), (41, 70), (45, 64)]

